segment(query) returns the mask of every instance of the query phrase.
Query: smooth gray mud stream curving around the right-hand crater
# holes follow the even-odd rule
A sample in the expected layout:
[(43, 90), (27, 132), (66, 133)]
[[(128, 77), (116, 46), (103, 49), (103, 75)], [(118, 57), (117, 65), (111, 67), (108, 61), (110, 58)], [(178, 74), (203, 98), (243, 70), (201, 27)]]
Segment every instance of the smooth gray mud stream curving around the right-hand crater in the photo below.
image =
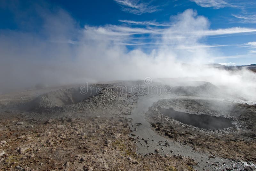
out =
[[(138, 149), (137, 153), (142, 155), (150, 155), (151, 153), (160, 153), (162, 155), (176, 155), (189, 157), (196, 160), (197, 166), (194, 167), (196, 170), (226, 170), (227, 168), (236, 168), (237, 170), (244, 170), (246, 162), (234, 161), (218, 156), (212, 156), (211, 153), (195, 151), (191, 146), (184, 145), (177, 141), (172, 141), (151, 129), (150, 123), (146, 119), (145, 113), (148, 108), (152, 106), (157, 100), (164, 98), (191, 98), (200, 99), (200, 97), (188, 97), (188, 96), (157, 96), (147, 95), (139, 96), (138, 103), (132, 111), (131, 124), (131, 137), (135, 138)], [(203, 98), (205, 99), (205, 98)], [(209, 99), (209, 98), (207, 98)]]

